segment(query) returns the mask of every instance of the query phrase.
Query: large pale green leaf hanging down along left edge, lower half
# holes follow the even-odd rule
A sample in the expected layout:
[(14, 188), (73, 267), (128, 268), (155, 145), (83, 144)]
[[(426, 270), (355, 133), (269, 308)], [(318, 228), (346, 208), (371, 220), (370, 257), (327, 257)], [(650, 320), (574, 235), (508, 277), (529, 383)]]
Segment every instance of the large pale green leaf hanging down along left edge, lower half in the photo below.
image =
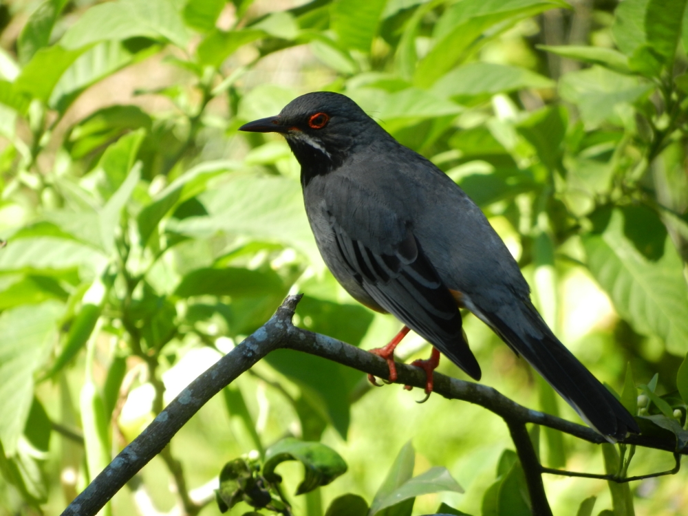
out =
[(54, 345), (63, 305), (46, 301), (0, 314), (0, 440), (5, 453), (17, 452), (34, 398), (34, 372)]

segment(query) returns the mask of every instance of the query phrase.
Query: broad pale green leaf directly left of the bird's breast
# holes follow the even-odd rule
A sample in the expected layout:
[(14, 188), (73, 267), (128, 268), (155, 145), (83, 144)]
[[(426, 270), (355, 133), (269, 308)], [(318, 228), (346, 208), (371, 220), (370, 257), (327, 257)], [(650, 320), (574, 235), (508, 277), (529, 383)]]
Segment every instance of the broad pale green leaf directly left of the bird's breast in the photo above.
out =
[(170, 220), (168, 230), (191, 237), (219, 231), (293, 246), (321, 264), (320, 253), (305, 217), (301, 185), (286, 178), (233, 175), (221, 186), (200, 195), (210, 214)]

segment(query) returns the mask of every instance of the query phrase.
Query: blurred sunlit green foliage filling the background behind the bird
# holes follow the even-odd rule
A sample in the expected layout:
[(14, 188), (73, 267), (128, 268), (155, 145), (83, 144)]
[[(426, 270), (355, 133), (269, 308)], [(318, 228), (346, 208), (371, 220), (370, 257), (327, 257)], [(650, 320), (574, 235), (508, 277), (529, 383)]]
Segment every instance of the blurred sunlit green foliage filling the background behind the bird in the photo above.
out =
[[(296, 319), (309, 330), (365, 347), (394, 334), (325, 269), (286, 143), (237, 133), (314, 89), (350, 96), (462, 186), (552, 329), (623, 385), (643, 433), (688, 439), (685, 0), (296, 4), (0, 7), (0, 514), (58, 513), (290, 290), (305, 292)], [(575, 417), (465, 319), (486, 383)], [(410, 341), (402, 354), (423, 347)], [(406, 402), (335, 363), (275, 352), (224, 390), (228, 418), (204, 409), (173, 440), (181, 462), (170, 451), (165, 464), (189, 514), (211, 498), (187, 484), (221, 470), (219, 507), (236, 515), (530, 513), (490, 416)], [(428, 463), (415, 476), (411, 437)], [(543, 442), (550, 466), (663, 469), (658, 453), (607, 446), (600, 458), (555, 431)], [(292, 462), (278, 482), (283, 458), (305, 466), (301, 488)], [(107, 510), (164, 506), (174, 495), (156, 467)], [(608, 494), (571, 480), (552, 506), (669, 514), (680, 475)]]

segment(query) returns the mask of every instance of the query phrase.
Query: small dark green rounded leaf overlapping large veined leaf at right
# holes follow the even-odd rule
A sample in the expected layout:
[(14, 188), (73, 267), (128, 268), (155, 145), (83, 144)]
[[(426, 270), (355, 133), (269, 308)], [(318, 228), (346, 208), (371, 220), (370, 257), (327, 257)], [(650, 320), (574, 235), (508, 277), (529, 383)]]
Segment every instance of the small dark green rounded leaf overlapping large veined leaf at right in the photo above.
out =
[(623, 206), (623, 235), (650, 261), (664, 255), (667, 240), (665, 226), (654, 211), (646, 206)]

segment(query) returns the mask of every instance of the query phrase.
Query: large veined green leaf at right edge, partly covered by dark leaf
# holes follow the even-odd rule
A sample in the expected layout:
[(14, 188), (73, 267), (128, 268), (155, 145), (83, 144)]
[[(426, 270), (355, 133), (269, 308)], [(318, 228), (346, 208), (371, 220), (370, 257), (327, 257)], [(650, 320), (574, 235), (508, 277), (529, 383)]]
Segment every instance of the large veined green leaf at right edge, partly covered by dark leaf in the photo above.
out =
[(664, 256), (648, 261), (623, 235), (623, 215), (614, 210), (601, 235), (583, 239), (588, 268), (614, 307), (636, 332), (663, 339), (667, 351), (688, 347), (688, 290), (682, 261), (667, 239)]

